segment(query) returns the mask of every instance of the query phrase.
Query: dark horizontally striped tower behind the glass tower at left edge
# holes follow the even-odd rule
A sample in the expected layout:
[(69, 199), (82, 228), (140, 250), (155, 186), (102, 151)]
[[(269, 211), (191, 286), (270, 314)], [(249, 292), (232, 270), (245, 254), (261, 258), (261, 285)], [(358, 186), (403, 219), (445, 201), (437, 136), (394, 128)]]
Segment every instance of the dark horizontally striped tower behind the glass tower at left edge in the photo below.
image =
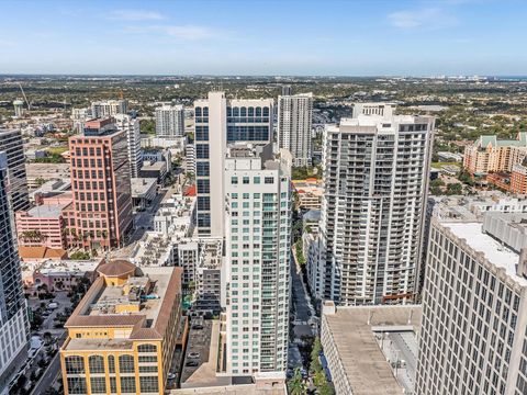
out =
[(22, 133), (14, 129), (0, 129), (0, 151), (8, 160), (8, 190), (13, 211), (30, 208), (25, 157)]

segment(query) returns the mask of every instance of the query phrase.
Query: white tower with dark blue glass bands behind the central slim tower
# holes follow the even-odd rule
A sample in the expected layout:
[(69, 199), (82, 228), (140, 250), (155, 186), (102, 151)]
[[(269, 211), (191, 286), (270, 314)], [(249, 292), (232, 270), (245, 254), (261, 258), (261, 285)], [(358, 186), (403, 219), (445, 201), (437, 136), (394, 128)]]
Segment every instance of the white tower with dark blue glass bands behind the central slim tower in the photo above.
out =
[(227, 99), (210, 92), (194, 102), (195, 180), (198, 187), (198, 233), (224, 236), (223, 182), (228, 144), (272, 142), (272, 99)]

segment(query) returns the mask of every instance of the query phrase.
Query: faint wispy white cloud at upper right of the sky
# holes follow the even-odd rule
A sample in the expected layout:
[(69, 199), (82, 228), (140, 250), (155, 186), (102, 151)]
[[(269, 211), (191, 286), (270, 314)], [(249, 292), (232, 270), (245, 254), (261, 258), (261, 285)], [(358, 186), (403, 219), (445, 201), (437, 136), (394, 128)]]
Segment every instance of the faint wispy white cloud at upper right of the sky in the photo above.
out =
[(439, 8), (397, 11), (389, 14), (388, 20), (392, 26), (402, 30), (438, 30), (450, 27), (458, 23), (456, 16)]

